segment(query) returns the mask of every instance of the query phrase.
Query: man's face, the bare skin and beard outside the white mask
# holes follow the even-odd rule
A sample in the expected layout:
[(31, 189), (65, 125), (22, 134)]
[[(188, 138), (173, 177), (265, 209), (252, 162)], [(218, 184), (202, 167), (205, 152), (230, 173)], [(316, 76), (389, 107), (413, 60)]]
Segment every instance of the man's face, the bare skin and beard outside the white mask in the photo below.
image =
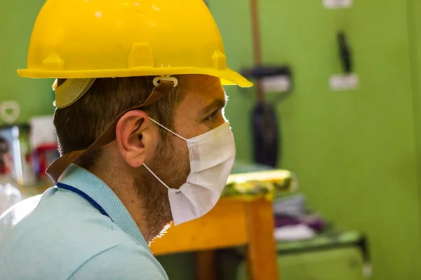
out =
[[(199, 75), (185, 77), (180, 84), (185, 88), (186, 95), (175, 109), (174, 132), (190, 139), (225, 123), (223, 109), (226, 98), (219, 78)], [(180, 188), (190, 172), (186, 141), (170, 132), (165, 132), (166, 137), (161, 139), (160, 130), (163, 129), (154, 123), (151, 125), (156, 130), (157, 145), (154, 153), (147, 154), (145, 162), (167, 186)], [(149, 229), (158, 234), (162, 225), (172, 221), (167, 189), (144, 167), (141, 168), (138, 183), (144, 187), (140, 195), (145, 198), (145, 209), (153, 209), (147, 223)]]

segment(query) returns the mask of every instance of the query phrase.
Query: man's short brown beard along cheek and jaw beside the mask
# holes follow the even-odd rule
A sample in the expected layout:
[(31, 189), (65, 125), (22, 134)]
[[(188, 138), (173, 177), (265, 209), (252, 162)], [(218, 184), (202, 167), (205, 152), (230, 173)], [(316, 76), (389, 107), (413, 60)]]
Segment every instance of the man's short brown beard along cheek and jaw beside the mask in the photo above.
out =
[[(166, 137), (161, 137), (161, 140), (156, 148), (154, 160), (147, 166), (167, 186), (180, 188), (189, 174), (188, 156), (187, 159), (183, 159), (182, 155), (177, 153), (177, 149), (173, 145), (173, 137), (166, 135)], [(142, 200), (145, 223), (149, 230), (149, 236), (145, 238), (152, 240), (169, 228), (173, 216), (168, 200), (168, 189), (156, 180), (145, 167), (140, 168), (138, 176), (135, 176), (135, 186), (137, 186), (138, 196)]]

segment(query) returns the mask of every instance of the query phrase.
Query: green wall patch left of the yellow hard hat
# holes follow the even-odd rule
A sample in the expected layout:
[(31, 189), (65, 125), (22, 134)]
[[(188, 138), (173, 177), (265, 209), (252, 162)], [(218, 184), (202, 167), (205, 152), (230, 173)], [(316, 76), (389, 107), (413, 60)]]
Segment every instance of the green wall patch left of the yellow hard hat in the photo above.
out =
[(16, 73), (26, 67), (29, 37), (43, 4), (44, 0), (0, 1), (0, 102), (19, 102), (20, 123), (54, 111), (53, 81), (20, 78)]

